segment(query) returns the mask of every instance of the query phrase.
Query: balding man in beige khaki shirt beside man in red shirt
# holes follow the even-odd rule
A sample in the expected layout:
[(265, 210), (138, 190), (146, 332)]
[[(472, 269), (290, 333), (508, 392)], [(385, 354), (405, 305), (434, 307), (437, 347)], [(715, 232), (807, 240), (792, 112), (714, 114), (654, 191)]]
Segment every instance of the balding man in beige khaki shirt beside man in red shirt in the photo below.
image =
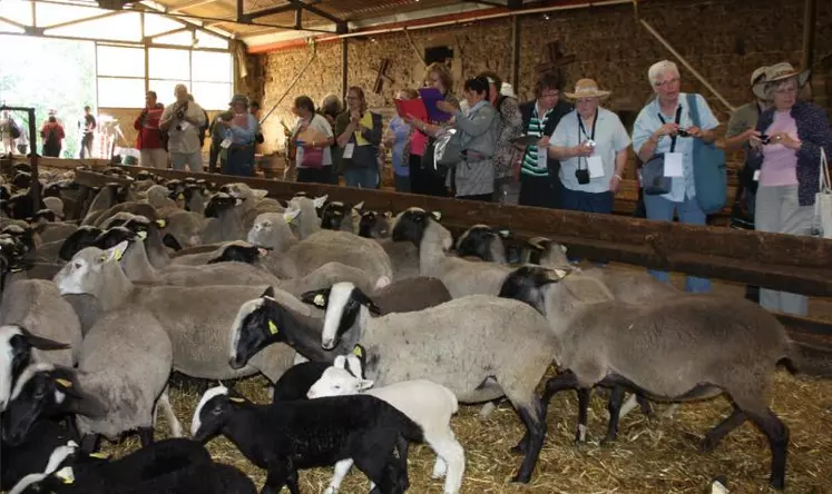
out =
[(205, 113), (188, 99), (185, 85), (174, 89), (176, 102), (167, 106), (161, 113), (159, 129), (167, 132), (167, 150), (175, 170), (203, 171), (203, 155), (199, 146), (199, 128), (205, 125)]

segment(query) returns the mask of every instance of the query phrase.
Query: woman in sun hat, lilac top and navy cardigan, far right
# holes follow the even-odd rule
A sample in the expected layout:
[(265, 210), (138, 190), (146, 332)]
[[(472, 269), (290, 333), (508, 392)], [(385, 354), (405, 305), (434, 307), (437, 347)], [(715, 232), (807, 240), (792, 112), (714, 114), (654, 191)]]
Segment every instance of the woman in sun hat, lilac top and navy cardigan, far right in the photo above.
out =
[[(762, 83), (774, 105), (764, 111), (751, 136), (752, 166), (760, 170), (754, 215), (757, 231), (809, 235), (820, 187), (821, 148), (832, 156), (832, 130), (823, 109), (799, 101), (809, 70), (782, 62), (767, 70)], [(805, 315), (803, 295), (760, 290), (760, 305)]]

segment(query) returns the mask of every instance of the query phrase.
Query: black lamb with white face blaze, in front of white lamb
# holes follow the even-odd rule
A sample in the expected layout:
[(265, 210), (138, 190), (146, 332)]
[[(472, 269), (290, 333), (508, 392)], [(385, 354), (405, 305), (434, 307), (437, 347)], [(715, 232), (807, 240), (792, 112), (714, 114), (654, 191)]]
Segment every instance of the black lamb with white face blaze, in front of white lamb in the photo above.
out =
[(200, 443), (222, 434), (266, 468), (264, 492), (284, 485), (300, 492), (298, 470), (352, 458), (379, 492), (402, 493), (408, 486), (408, 442), (424, 441), (418, 424), (373, 396), (255, 405), (225, 386), (203, 395), (190, 429)]

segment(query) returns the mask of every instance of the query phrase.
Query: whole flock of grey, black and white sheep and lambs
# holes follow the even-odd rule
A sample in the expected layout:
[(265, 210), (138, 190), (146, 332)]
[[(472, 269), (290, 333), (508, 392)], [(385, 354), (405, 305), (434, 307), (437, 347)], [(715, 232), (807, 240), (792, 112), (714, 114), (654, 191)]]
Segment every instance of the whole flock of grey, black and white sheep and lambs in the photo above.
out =
[[(513, 481), (528, 483), (551, 397), (577, 393), (583, 442), (595, 386), (611, 388), (605, 442), (635, 406), (726, 395), (733, 413), (703, 447), (751, 421), (783, 488), (789, 432), (767, 405), (773, 373), (785, 362), (832, 374), (832, 354), (790, 340), (751, 302), (578, 268), (545, 238), (512, 265), (503, 231), (478, 225), (454, 241), (441, 215), (419, 208), (393, 216), (303, 195), (282, 205), (242, 182), (120, 168), (85, 200), (71, 174), (33, 182), (27, 171), (0, 182), (0, 490), (14, 494), (256, 492), (207, 454), (215, 436), (267, 472), (260, 492), (297, 493), (300, 470), (334, 466), (334, 494), (355, 465), (372, 492), (401, 493), (409, 444), (427, 443), (433, 477), (456, 494), (466, 457), (451, 417), (459, 403), (487, 416), (503, 397), (526, 426)], [(168, 399), (173, 370), (214, 386), (192, 439)], [(228, 386), (255, 374), (274, 384), (271, 404)], [(158, 412), (175, 438), (154, 442)], [(134, 432), (140, 449), (98, 454), (101, 437)]]

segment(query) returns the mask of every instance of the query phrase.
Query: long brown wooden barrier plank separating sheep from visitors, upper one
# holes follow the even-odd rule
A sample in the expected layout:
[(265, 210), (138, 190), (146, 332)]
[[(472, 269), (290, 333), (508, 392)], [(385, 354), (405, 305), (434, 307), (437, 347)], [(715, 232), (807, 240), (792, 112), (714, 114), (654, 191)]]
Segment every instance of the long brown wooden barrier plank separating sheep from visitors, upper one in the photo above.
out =
[(194, 176), (217, 184), (242, 181), (277, 198), (303, 190), (348, 204), (363, 201), (369, 209), (401, 211), (418, 206), (442, 211), (443, 223), (450, 225), (481, 223), (509, 227), (519, 238), (546, 236), (567, 245), (577, 257), (832, 296), (832, 240), (319, 184), (147, 170), (168, 178)]

